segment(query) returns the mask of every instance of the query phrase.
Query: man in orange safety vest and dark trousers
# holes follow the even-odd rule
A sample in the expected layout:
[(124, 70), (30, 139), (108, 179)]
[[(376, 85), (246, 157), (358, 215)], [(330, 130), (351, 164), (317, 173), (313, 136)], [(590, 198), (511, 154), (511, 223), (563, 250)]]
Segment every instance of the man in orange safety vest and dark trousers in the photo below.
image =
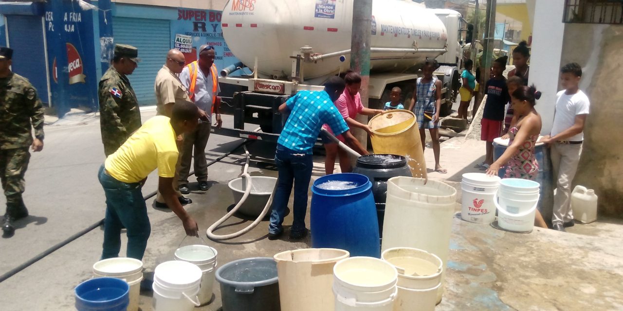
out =
[(197, 129), (184, 135), (184, 142), (180, 154), (181, 164), (179, 165), (179, 191), (188, 194), (188, 174), (193, 159), (194, 149), (194, 171), (199, 182), (199, 190), (207, 190), (207, 162), (206, 145), (210, 137), (212, 126), (212, 114), (216, 116), (216, 127), (221, 128), (222, 119), (219, 114), (219, 104), (221, 98), (217, 96), (219, 88), (218, 72), (214, 65), (215, 51), (212, 45), (201, 45), (199, 47), (199, 60), (189, 63), (179, 74), (179, 80), (188, 89), (188, 95), (199, 108), (202, 115), (202, 122)]

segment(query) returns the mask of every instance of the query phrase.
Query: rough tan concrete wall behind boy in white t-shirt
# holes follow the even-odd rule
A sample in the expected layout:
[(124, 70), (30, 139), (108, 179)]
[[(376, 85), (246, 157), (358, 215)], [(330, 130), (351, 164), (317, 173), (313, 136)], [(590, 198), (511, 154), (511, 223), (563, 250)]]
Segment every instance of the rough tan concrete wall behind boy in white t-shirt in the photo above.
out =
[(564, 27), (561, 65), (576, 62), (582, 66), (580, 88), (591, 100), (591, 114), (584, 128), (584, 151), (574, 185), (594, 188), (599, 195), (600, 215), (617, 217), (623, 217), (622, 50), (623, 26)]

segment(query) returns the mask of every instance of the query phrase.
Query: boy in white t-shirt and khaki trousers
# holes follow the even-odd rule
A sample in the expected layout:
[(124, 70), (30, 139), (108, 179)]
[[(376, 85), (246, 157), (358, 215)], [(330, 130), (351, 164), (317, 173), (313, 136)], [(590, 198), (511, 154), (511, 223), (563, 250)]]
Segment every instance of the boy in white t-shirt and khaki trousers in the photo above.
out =
[(556, 112), (551, 134), (541, 141), (551, 146), (551, 164), (556, 177), (556, 195), (552, 225), (554, 230), (564, 231), (574, 225), (571, 212), (571, 182), (578, 170), (584, 141), (584, 123), (591, 103), (579, 90), (582, 68), (578, 63), (568, 63), (560, 70), (564, 88), (556, 95)]

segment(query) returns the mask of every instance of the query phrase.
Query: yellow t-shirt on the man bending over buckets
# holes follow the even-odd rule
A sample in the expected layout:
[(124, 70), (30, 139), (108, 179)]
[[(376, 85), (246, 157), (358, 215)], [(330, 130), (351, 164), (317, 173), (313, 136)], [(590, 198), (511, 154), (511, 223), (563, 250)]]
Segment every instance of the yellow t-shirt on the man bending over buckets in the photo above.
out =
[(104, 167), (112, 177), (126, 183), (140, 182), (156, 168), (158, 176), (173, 177), (179, 156), (175, 140), (170, 119), (155, 116), (108, 156)]

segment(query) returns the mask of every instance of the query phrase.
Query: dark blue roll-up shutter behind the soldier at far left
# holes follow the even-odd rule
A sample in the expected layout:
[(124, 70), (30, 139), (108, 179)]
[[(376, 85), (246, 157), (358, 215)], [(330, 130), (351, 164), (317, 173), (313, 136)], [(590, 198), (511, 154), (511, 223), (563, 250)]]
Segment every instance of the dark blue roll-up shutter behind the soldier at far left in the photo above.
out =
[(30, 80), (40, 100), (49, 103), (42, 17), (7, 15), (6, 27), (13, 49), (11, 70)]

